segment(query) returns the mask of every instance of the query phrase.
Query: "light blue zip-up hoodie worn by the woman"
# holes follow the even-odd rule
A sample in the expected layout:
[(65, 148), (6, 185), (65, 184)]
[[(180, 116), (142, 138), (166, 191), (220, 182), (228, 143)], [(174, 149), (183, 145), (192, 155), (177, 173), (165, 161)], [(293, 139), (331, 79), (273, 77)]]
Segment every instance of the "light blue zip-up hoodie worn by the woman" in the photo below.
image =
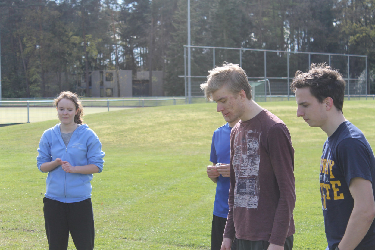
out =
[[(72, 166), (94, 164), (99, 173), (103, 170), (102, 144), (93, 130), (82, 124), (74, 131), (68, 147), (61, 137), (60, 123), (44, 131), (40, 138), (39, 155), (36, 157), (39, 171), (42, 163), (56, 158), (69, 162)], [(41, 171), (43, 172), (43, 171)], [(61, 166), (48, 172), (45, 193), (46, 198), (64, 202), (79, 202), (91, 197), (92, 174), (66, 173)]]

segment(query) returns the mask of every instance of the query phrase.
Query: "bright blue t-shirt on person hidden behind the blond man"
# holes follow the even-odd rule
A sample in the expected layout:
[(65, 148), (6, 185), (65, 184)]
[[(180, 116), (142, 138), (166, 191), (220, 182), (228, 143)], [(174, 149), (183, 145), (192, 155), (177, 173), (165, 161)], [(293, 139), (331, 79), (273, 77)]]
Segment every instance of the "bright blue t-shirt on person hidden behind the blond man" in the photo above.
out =
[[(216, 129), (212, 136), (210, 162), (230, 163), (231, 148), (230, 137), (232, 128), (226, 123), (224, 126)], [(215, 202), (213, 204), (213, 214), (222, 218), (228, 216), (228, 193), (229, 177), (219, 175), (216, 184)]]

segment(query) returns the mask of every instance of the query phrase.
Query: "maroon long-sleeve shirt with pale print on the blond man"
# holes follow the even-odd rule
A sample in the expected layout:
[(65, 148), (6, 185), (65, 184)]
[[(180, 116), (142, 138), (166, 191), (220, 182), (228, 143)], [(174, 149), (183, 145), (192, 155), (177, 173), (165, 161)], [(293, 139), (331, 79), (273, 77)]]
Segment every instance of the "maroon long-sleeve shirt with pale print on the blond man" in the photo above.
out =
[(287, 126), (264, 109), (231, 132), (229, 214), (223, 238), (284, 246), (295, 233), (294, 149)]

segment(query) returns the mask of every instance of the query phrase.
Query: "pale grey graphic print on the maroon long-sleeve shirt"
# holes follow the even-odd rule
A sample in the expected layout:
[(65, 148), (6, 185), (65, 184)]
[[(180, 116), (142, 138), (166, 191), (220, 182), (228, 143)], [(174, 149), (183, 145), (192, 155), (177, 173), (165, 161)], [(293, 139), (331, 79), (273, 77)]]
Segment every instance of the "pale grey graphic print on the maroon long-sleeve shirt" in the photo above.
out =
[[(244, 133), (245, 135), (245, 133)], [(234, 207), (257, 208), (259, 201), (259, 141), (261, 133), (247, 131), (246, 137), (235, 135), (233, 169), (236, 174)]]

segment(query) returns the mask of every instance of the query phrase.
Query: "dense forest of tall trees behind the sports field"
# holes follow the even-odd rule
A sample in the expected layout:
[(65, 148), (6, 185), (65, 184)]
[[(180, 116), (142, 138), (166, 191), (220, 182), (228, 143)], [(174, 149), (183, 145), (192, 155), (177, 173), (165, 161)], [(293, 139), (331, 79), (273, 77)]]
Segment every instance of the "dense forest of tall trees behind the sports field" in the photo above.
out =
[[(375, 93), (375, 0), (191, 0), (190, 11), (191, 45), (368, 55)], [(0, 0), (0, 35), (2, 97), (46, 97), (47, 74), (87, 82), (93, 70), (161, 70), (165, 94), (184, 94), (187, 0)]]

